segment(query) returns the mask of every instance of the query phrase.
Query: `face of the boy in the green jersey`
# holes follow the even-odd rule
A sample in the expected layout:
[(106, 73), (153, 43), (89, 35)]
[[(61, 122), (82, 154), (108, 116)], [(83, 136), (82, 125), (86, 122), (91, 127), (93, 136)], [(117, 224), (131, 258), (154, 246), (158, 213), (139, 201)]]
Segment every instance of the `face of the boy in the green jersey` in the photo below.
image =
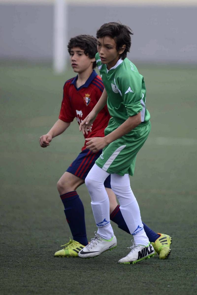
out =
[(117, 63), (124, 49), (125, 45), (123, 45), (123, 50), (117, 51), (116, 42), (111, 37), (105, 36), (97, 39), (97, 50), (101, 62), (107, 64), (108, 70)]

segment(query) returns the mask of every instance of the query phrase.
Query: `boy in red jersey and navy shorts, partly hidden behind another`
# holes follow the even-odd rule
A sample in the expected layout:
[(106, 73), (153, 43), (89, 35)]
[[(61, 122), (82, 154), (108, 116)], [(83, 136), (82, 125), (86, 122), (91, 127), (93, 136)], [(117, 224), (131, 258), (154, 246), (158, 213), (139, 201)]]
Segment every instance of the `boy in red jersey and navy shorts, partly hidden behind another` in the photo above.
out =
[[(94, 71), (96, 67), (95, 54), (97, 53), (97, 39), (89, 35), (79, 35), (71, 38), (68, 44), (68, 51), (71, 66), (78, 75), (67, 80), (64, 84), (59, 119), (47, 134), (40, 137), (40, 146), (43, 148), (50, 145), (53, 137), (63, 133), (74, 118), (80, 124), (97, 104), (104, 89), (102, 79)], [(104, 129), (107, 127), (109, 119), (110, 115), (107, 106), (105, 106), (92, 124), (92, 132), (89, 132), (85, 138), (104, 137)], [(101, 153), (102, 150), (92, 153), (86, 148), (86, 144), (84, 143), (82, 152), (79, 153), (57, 183), (58, 192), (64, 204), (64, 213), (73, 239), (63, 245), (64, 248), (57, 251), (55, 256), (78, 256), (78, 252), (88, 244), (84, 207), (76, 189), (84, 183), (88, 172)], [(122, 217), (115, 194), (111, 190), (110, 176), (105, 180), (104, 185), (110, 200), (110, 219), (117, 223), (118, 227), (130, 233)], [(147, 229), (149, 232), (151, 242), (154, 242), (160, 237), (146, 225), (144, 225), (144, 229)]]

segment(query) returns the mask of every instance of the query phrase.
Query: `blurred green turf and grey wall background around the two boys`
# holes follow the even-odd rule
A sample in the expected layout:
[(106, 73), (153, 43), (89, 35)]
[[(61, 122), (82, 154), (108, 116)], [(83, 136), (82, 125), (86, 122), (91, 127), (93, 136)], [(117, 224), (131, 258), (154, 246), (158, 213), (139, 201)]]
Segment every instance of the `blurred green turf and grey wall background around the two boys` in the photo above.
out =
[[(1, 294), (197, 293), (196, 15), (196, 0), (0, 0)], [(56, 183), (84, 137), (74, 120), (49, 147), (39, 145), (58, 119), (65, 81), (76, 75), (69, 38), (95, 36), (110, 21), (133, 30), (128, 58), (144, 76), (151, 114), (131, 187), (142, 220), (173, 241), (168, 260), (135, 266), (117, 264), (131, 236), (114, 223), (117, 250), (93, 261), (53, 257), (71, 236)], [(85, 185), (77, 192), (90, 240), (90, 197)]]

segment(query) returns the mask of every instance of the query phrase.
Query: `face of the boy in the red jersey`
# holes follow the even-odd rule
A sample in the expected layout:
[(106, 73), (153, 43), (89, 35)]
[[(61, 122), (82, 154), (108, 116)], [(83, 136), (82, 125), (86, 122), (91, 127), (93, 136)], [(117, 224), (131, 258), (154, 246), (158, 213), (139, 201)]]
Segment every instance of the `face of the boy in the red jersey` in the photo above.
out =
[(89, 68), (92, 68), (92, 64), (95, 58), (89, 58), (85, 55), (84, 50), (79, 47), (71, 48), (70, 53), (71, 66), (75, 73), (83, 73)]

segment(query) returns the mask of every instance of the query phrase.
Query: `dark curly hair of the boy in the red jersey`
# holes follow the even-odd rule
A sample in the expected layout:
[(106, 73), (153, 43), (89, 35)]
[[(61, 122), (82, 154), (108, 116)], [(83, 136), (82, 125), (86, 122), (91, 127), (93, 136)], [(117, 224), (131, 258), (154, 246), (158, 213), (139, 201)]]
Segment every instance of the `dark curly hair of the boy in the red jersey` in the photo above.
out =
[[(68, 52), (71, 54), (73, 47), (79, 47), (84, 50), (85, 55), (89, 58), (94, 58), (97, 53), (97, 39), (90, 35), (79, 35), (70, 39), (68, 44)], [(96, 61), (93, 63), (92, 68), (97, 66)]]

